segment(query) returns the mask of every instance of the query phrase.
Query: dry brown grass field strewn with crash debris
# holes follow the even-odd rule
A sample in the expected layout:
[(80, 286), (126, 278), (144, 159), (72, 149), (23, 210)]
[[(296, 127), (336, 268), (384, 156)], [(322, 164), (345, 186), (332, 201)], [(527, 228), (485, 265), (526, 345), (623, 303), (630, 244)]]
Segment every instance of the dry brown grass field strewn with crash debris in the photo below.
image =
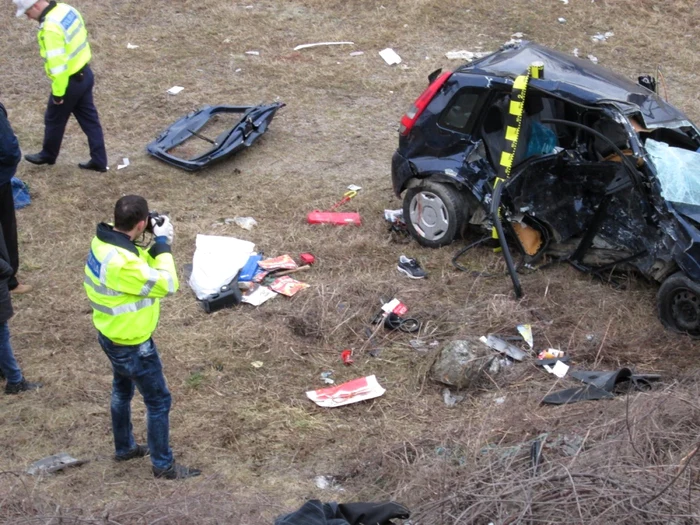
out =
[[(451, 50), (496, 50), (515, 32), (631, 78), (661, 66), (669, 100), (700, 120), (697, 2), (668, 0), (74, 0), (86, 19), (95, 97), (112, 170), (77, 168), (87, 143), (69, 125), (55, 166), (26, 162), (18, 176), (32, 205), (18, 213), (21, 277), (35, 291), (15, 296), (13, 347), (37, 393), (0, 396), (0, 522), (18, 524), (263, 524), (322, 501), (395, 499), (416, 524), (700, 522), (697, 458), (698, 343), (665, 332), (655, 286), (629, 277), (626, 290), (567, 266), (523, 275), (513, 299), (505, 274), (476, 278), (450, 260), (463, 244), (429, 250), (394, 242), (382, 217), (399, 208), (390, 180), (397, 123)], [(0, 100), (24, 153), (41, 146), (49, 91), (36, 24), (5, 2)], [(565, 24), (557, 23), (566, 18)], [(607, 42), (591, 36), (614, 31)], [(352, 46), (295, 52), (298, 44)], [(127, 44), (138, 45), (127, 49)], [(387, 66), (378, 51), (403, 58)], [(258, 51), (259, 55), (246, 54)], [(352, 51), (363, 55), (350, 56)], [(180, 85), (177, 96), (166, 90)], [(162, 129), (205, 104), (282, 101), (253, 148), (198, 174), (145, 153)], [(131, 165), (117, 171), (122, 157)], [(362, 186), (347, 210), (363, 225), (312, 227), (305, 216)], [(112, 461), (111, 370), (82, 289), (95, 224), (121, 195), (145, 196), (170, 214), (182, 272), (198, 233), (230, 235), (274, 256), (310, 251), (310, 288), (261, 307), (211, 315), (184, 282), (162, 305), (155, 334), (173, 394), (176, 458), (203, 475), (156, 481), (148, 460)], [(248, 232), (220, 219), (252, 216)], [(428, 271), (411, 281), (400, 254)], [(471, 267), (497, 274), (501, 257), (473, 251)], [(584, 369), (631, 366), (663, 375), (646, 393), (579, 405), (542, 406), (553, 376), (523, 363), (448, 408), (427, 372), (432, 354), (412, 336), (381, 332), (367, 352), (365, 327), (380, 298), (397, 296), (441, 343), (531, 323), (538, 348), (560, 347)], [(354, 348), (344, 367), (340, 351)], [(262, 361), (261, 368), (251, 366)], [(335, 371), (338, 383), (376, 374), (386, 394), (322, 409), (304, 392)], [(569, 383), (564, 381), (566, 385)], [(496, 398), (504, 397), (502, 404)], [(145, 440), (136, 396), (134, 427)], [(533, 471), (529, 442), (549, 433)], [(561, 441), (579, 444), (567, 455)], [(559, 443), (559, 444), (557, 444)], [(24, 474), (57, 452), (88, 459), (44, 478)], [(571, 452), (569, 451), (569, 454)], [(334, 476), (339, 490), (316, 487)], [(673, 482), (668, 490), (663, 490)]]

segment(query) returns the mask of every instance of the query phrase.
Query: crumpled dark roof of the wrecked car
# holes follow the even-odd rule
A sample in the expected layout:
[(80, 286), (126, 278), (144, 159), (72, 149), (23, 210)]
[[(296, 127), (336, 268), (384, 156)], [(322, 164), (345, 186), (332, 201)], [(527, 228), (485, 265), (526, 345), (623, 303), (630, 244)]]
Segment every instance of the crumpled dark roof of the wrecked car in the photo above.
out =
[(462, 66), (462, 73), (480, 73), (494, 77), (515, 78), (533, 63), (544, 64), (544, 79), (532, 80), (531, 86), (581, 104), (617, 102), (626, 113), (639, 111), (647, 127), (688, 121), (688, 117), (653, 91), (598, 66), (589, 60), (554, 51), (523, 41)]

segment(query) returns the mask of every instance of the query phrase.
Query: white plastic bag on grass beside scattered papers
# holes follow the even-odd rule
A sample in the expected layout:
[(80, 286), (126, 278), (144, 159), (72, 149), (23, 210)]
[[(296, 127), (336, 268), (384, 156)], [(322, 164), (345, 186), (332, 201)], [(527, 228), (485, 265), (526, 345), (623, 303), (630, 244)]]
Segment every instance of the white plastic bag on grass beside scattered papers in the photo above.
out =
[(205, 299), (230, 283), (254, 250), (254, 243), (235, 237), (197, 235), (190, 276), (197, 299)]

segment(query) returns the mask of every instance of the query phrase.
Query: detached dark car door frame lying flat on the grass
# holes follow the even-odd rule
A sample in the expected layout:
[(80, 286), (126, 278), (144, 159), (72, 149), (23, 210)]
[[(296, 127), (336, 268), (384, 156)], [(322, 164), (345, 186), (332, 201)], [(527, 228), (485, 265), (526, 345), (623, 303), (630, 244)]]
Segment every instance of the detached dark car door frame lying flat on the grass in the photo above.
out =
[[(282, 107), (282, 103), (260, 106), (204, 106), (182, 117), (163, 131), (156, 140), (146, 146), (146, 150), (168, 164), (187, 171), (197, 171), (250, 147), (267, 131), (270, 121)], [(241, 118), (216, 138), (209, 138), (200, 133), (207, 122), (222, 114), (240, 114)], [(190, 159), (180, 158), (172, 153), (173, 149), (192, 137), (210, 143), (211, 149)]]

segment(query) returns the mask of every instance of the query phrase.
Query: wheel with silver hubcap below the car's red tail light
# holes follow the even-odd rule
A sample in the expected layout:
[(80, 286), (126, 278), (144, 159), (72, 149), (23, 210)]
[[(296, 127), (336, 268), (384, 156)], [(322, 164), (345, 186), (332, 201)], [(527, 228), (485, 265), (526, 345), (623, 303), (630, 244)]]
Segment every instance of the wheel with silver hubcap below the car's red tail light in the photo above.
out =
[(468, 210), (454, 186), (424, 182), (406, 191), (403, 217), (419, 244), (439, 248), (450, 244), (462, 231)]

